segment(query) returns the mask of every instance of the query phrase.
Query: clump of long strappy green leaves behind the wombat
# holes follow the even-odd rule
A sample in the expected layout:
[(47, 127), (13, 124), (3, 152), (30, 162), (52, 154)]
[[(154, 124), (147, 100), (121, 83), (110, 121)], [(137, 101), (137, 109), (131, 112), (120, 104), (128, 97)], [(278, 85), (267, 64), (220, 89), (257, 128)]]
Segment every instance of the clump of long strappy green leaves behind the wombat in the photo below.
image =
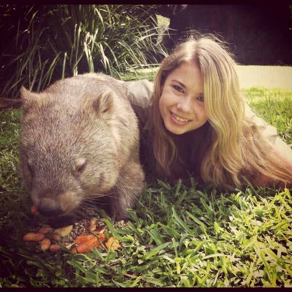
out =
[(121, 77), (157, 65), (166, 55), (157, 42), (153, 5), (1, 5), (5, 45), (1, 97), (21, 85), (40, 91), (51, 82), (85, 72)]

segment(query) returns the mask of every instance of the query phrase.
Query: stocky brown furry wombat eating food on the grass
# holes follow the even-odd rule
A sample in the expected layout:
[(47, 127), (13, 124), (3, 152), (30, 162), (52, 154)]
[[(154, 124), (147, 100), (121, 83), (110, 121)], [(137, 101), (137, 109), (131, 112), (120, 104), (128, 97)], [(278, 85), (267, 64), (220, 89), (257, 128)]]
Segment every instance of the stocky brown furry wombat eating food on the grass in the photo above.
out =
[(86, 73), (40, 93), (21, 88), (19, 174), (38, 212), (65, 218), (92, 201), (127, 218), (141, 194), (138, 120), (113, 77)]

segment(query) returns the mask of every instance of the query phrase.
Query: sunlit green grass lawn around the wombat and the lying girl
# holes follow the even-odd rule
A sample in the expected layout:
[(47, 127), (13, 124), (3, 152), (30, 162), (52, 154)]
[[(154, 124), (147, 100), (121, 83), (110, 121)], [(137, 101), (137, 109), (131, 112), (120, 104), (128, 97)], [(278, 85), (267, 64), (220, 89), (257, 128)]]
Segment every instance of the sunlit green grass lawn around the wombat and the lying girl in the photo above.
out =
[[(245, 90), (247, 102), (291, 141), (292, 92)], [(126, 226), (106, 217), (122, 248), (42, 252), (24, 244), (35, 228), (20, 186), (20, 110), (0, 112), (0, 286), (291, 287), (291, 190), (247, 187), (220, 193), (190, 179), (146, 184)], [(41, 219), (42, 220), (42, 219)]]

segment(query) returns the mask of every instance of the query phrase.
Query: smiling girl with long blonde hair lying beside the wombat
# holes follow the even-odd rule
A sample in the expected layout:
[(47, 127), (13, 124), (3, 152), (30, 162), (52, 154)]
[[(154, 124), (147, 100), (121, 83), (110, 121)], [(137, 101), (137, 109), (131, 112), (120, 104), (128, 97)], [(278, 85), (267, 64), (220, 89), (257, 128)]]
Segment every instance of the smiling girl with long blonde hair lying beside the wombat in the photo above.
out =
[[(292, 187), (292, 149), (244, 103), (236, 63), (214, 37), (189, 39), (155, 77), (125, 82), (140, 120), (146, 173), (225, 189)], [(146, 166), (148, 165), (148, 167)]]

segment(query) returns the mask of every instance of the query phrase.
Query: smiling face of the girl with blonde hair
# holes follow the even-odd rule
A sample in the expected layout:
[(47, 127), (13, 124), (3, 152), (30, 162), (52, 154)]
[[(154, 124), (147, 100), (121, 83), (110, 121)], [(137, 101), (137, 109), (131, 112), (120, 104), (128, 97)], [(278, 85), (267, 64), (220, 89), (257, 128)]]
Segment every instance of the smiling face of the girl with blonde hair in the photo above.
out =
[(207, 122), (203, 80), (198, 65), (183, 62), (168, 74), (161, 91), (159, 110), (165, 128), (171, 133), (180, 135)]

